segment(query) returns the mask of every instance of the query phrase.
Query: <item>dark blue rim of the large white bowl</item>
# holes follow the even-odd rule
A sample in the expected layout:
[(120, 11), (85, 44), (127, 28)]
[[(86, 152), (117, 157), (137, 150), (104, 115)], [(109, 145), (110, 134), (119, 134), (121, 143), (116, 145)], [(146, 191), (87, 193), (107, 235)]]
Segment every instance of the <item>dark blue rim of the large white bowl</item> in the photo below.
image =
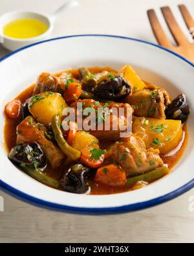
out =
[[(146, 43), (147, 45), (152, 45), (153, 47), (157, 47), (159, 49), (162, 49), (166, 52), (169, 52), (181, 60), (184, 60), (184, 62), (191, 65), (191, 67), (194, 67), (194, 64), (192, 62), (189, 62), (186, 58), (181, 56), (180, 54), (177, 54), (176, 52), (173, 52), (165, 47), (162, 47), (160, 45), (156, 45), (155, 43), (150, 43), (148, 41), (139, 40), (136, 38), (128, 38), (125, 36), (113, 36), (113, 35), (106, 35), (106, 34), (79, 34), (79, 35), (73, 35), (73, 36), (63, 36), (60, 38), (52, 38), (50, 40), (40, 41), (38, 43), (33, 43), (32, 45), (27, 45), (26, 47), (23, 47), (21, 49), (18, 49), (17, 51), (11, 52), (10, 54), (7, 54), (3, 58), (0, 59), (0, 62), (3, 62), (3, 60), (6, 60), (6, 58), (9, 58), (10, 56), (16, 54), (17, 52), (21, 52), (27, 48), (33, 47), (34, 45), (39, 45), (41, 43), (46, 43), (48, 41), (55, 41), (55, 40), (62, 40), (67, 38), (78, 38), (78, 37), (104, 37), (104, 38), (120, 38), (124, 40), (131, 40), (131, 41), (138, 41), (140, 43)], [(90, 208), (90, 207), (70, 207), (68, 205), (61, 205), (61, 204), (55, 204), (50, 203), (44, 200), (40, 200), (38, 198), (35, 198), (33, 196), (29, 196), (28, 194), (25, 194), (24, 192), (21, 192), (14, 187), (11, 187), (10, 185), (6, 184), (5, 182), (0, 180), (0, 188), (7, 192), (8, 194), (14, 196), (15, 198), (18, 198), (19, 200), (23, 200), (25, 202), (28, 202), (32, 205), (36, 205), (38, 207), (44, 207), (51, 210), (56, 211), (64, 211), (67, 213), (80, 213), (80, 214), (91, 214), (91, 215), (106, 215), (106, 214), (116, 214), (116, 213), (126, 213), (126, 212), (132, 212), (132, 211), (138, 211), (142, 209), (147, 209), (149, 207), (153, 207), (159, 204), (163, 204), (169, 200), (172, 200), (176, 198), (177, 196), (180, 196), (181, 194), (184, 194), (185, 192), (189, 191), (190, 189), (193, 189), (194, 187), (194, 179), (186, 183), (186, 185), (180, 187), (179, 189), (170, 192), (168, 194), (165, 194), (164, 196), (160, 196), (158, 198), (148, 200), (146, 202), (140, 202), (136, 204), (129, 204), (129, 205), (122, 205), (118, 207), (105, 207), (105, 208)]]

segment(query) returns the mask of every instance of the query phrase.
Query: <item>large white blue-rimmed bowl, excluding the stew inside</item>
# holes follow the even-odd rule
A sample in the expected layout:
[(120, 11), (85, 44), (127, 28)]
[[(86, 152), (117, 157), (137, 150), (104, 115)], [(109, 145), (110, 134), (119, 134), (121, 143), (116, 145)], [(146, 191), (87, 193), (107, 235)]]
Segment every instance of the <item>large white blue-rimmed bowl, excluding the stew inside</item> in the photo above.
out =
[[(172, 97), (186, 93), (191, 106), (189, 143), (184, 156), (168, 176), (133, 192), (87, 196), (51, 189), (18, 170), (3, 146), (4, 106), (43, 72), (56, 73), (81, 66), (131, 64), (138, 74), (166, 88)], [(157, 45), (117, 36), (82, 35), (44, 41), (0, 60), (0, 185), (14, 196), (43, 207), (75, 213), (121, 213), (166, 202), (194, 186), (194, 65)]]

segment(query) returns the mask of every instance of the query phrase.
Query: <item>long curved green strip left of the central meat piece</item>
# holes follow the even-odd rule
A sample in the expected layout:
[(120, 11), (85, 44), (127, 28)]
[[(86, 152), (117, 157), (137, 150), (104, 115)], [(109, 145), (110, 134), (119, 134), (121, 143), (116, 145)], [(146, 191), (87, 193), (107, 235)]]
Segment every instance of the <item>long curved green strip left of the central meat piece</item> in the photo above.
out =
[(80, 158), (81, 152), (72, 148), (67, 141), (65, 141), (63, 137), (63, 133), (61, 131), (61, 120), (59, 115), (54, 115), (52, 117), (52, 130), (54, 132), (54, 137), (59, 145), (59, 148), (65, 153), (67, 156), (70, 157), (70, 159), (76, 161)]

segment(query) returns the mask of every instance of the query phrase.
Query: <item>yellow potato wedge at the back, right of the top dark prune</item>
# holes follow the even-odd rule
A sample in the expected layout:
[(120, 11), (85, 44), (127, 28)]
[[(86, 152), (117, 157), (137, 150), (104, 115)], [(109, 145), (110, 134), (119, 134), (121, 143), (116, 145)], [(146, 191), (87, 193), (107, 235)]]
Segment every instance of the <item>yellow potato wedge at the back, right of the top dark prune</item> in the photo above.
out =
[(122, 75), (127, 82), (129, 82), (133, 89), (133, 93), (144, 89), (146, 86), (130, 65), (125, 65), (125, 67), (122, 67), (118, 73), (119, 75)]

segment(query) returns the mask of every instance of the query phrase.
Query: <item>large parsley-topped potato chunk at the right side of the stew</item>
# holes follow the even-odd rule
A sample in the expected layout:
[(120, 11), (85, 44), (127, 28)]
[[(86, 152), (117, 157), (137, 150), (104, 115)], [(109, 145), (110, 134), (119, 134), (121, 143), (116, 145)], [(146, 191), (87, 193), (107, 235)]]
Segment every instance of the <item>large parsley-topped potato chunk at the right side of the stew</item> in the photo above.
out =
[(133, 133), (142, 137), (146, 148), (158, 148), (160, 154), (167, 154), (176, 148), (183, 135), (181, 121), (145, 117), (134, 118)]

